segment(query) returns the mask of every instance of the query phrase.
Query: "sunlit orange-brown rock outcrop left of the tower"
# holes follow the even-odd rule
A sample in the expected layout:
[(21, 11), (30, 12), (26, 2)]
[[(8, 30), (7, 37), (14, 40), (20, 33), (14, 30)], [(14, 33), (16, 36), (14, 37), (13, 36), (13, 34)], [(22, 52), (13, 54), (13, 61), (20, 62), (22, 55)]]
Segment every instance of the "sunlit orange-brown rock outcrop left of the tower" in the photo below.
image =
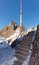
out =
[(11, 21), (9, 25), (5, 26), (0, 31), (0, 36), (7, 38), (11, 34), (14, 34), (15, 30), (18, 28), (18, 24), (16, 24), (14, 21)]

